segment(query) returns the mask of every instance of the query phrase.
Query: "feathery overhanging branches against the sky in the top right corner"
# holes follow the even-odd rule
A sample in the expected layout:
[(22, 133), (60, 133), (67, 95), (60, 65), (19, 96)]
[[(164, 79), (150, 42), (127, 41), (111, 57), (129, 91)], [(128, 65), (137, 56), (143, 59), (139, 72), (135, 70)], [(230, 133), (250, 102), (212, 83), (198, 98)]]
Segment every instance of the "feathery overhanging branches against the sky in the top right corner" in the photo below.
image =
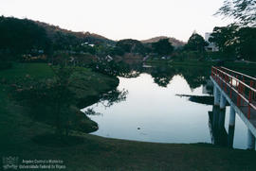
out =
[(241, 26), (256, 26), (256, 0), (225, 0), (215, 15), (232, 17)]

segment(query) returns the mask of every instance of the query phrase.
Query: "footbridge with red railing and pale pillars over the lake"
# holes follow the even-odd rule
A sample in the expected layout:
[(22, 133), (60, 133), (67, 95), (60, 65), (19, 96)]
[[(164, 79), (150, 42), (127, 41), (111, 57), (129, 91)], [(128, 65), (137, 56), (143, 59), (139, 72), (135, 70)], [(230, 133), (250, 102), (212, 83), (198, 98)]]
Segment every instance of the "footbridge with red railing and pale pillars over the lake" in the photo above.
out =
[(235, 116), (239, 115), (247, 126), (247, 149), (255, 149), (256, 78), (225, 67), (212, 67), (210, 79), (214, 86), (214, 106), (224, 111), (224, 118), (229, 102), (229, 130), (234, 130)]

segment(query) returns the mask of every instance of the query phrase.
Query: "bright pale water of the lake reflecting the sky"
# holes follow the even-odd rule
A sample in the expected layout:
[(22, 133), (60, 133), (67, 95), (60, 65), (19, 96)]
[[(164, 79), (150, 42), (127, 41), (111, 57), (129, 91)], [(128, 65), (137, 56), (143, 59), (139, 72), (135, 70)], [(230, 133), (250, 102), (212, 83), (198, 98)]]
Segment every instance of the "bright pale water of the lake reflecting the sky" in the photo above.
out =
[[(187, 96), (203, 94), (203, 84), (196, 86), (182, 74), (174, 74), (164, 86), (154, 77), (142, 73), (138, 77), (119, 77), (118, 90), (126, 90), (126, 100), (105, 107), (101, 103), (83, 109), (93, 109), (100, 115), (89, 117), (99, 124), (92, 134), (102, 137), (157, 143), (212, 143), (210, 134), (211, 105), (195, 103)], [(206, 79), (206, 77), (205, 77)], [(155, 81), (156, 80), (156, 81)], [(226, 110), (225, 127), (229, 132), (229, 107)], [(224, 130), (225, 130), (224, 129)], [(233, 147), (247, 147), (247, 128), (236, 115)], [(225, 138), (224, 138), (225, 139)]]

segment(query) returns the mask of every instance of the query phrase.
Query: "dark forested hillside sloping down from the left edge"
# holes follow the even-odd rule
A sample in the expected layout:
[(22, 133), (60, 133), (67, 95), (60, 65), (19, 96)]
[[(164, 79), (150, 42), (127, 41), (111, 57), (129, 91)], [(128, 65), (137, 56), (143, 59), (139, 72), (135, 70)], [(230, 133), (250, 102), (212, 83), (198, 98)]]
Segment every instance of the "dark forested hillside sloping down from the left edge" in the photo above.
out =
[(46, 53), (56, 50), (78, 50), (82, 43), (113, 45), (114, 41), (89, 32), (73, 32), (28, 19), (0, 16), (0, 52), (29, 53), (42, 49)]

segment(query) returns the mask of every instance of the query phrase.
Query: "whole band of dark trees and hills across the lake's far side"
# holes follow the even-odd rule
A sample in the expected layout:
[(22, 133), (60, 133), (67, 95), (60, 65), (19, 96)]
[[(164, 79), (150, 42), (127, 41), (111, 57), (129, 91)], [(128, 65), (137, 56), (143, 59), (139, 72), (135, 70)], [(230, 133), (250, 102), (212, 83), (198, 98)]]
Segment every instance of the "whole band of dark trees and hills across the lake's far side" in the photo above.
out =
[[(188, 43), (176, 47), (168, 38), (153, 43), (133, 39), (114, 42), (88, 32), (72, 32), (28, 19), (0, 16), (0, 61), (24, 60), (44, 56), (43, 60), (77, 62), (106, 56), (122, 57), (126, 53), (140, 58), (172, 60), (245, 59), (256, 60), (256, 28), (248, 26), (215, 27), (210, 37), (218, 52), (207, 52), (209, 43), (193, 32)], [(210, 54), (210, 55), (209, 55)], [(0, 63), (0, 68), (1, 68)], [(2, 65), (3, 66), (3, 65)], [(4, 66), (8, 66), (6, 63)]]

